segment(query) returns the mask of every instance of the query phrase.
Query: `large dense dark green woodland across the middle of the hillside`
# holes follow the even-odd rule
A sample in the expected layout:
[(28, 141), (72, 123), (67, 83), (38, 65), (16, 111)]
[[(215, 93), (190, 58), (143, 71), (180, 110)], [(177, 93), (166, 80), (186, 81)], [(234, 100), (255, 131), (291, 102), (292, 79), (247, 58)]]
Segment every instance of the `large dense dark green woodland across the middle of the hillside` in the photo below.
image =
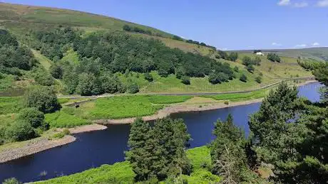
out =
[[(135, 84), (123, 86), (116, 77), (117, 72), (133, 71), (146, 74), (156, 70), (162, 77), (176, 74), (186, 85), (190, 84), (189, 77), (221, 76), (220, 80), (215, 80), (220, 82), (235, 77), (230, 65), (176, 48), (168, 48), (160, 40), (106, 32), (81, 36), (79, 31), (72, 28), (37, 31), (34, 36), (37, 41), (32, 45), (37, 45), (36, 49), (54, 61), (50, 69), (51, 75), (63, 80), (69, 94), (138, 92), (138, 86)], [(59, 64), (63, 54), (70, 48), (78, 53), (79, 62)], [(151, 80), (149, 75), (146, 77)], [(106, 86), (103, 85), (104, 82)]]

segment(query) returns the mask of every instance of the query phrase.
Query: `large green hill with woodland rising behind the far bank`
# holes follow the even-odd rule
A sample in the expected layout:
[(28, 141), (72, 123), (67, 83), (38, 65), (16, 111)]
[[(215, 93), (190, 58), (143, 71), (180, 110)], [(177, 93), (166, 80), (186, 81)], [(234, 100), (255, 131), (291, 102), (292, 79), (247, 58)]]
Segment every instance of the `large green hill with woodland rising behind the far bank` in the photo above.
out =
[[(8, 66), (15, 66), (8, 65), (12, 58), (7, 58), (0, 77), (1, 95), (21, 94), (31, 84), (84, 95), (129, 92), (128, 87), (142, 93), (233, 92), (312, 76), (296, 59), (287, 57), (282, 63), (262, 57), (261, 65), (247, 71), (242, 59), (254, 60), (254, 55), (240, 53), (230, 60), (205, 43), (81, 11), (1, 3), (0, 21), (1, 28), (12, 35), (8, 38), (16, 37), (37, 60), (29, 70), (9, 70)], [(5, 48), (4, 55), (16, 49)], [(81, 92), (80, 79), (98, 85)], [(113, 89), (104, 90), (101, 84)]]

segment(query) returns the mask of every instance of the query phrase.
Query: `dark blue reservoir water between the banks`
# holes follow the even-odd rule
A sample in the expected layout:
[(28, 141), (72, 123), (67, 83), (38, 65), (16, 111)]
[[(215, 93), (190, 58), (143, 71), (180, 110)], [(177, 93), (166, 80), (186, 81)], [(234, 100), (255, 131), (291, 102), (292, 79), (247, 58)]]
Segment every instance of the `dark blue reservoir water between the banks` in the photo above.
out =
[[(312, 102), (319, 101), (317, 90), (321, 85), (312, 83), (299, 87), (299, 95), (308, 97)], [(260, 103), (240, 107), (211, 110), (207, 112), (186, 112), (173, 114), (173, 118), (182, 118), (192, 136), (192, 148), (209, 144), (213, 139), (212, 129), (217, 119), (226, 119), (232, 114), (235, 124), (249, 133), (247, 119), (257, 112)], [(111, 125), (103, 131), (77, 134), (77, 141), (52, 148), (32, 156), (0, 164), (0, 182), (15, 177), (22, 182), (45, 180), (60, 175), (69, 175), (85, 171), (103, 164), (124, 161), (124, 151), (128, 149), (129, 125)], [(46, 171), (45, 176), (40, 173)]]

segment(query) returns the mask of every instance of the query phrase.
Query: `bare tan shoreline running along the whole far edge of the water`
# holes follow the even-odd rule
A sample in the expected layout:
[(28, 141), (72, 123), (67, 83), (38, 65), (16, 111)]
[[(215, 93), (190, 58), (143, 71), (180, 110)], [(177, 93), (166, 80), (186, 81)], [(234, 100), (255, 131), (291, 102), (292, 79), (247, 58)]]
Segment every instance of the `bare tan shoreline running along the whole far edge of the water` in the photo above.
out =
[[(310, 80), (310, 81), (296, 84), (296, 86), (299, 87), (314, 82), (317, 81)], [(170, 116), (170, 114), (175, 114), (179, 112), (203, 112), (203, 111), (210, 111), (215, 109), (238, 107), (248, 104), (259, 103), (262, 102), (262, 99), (263, 98), (251, 99), (243, 102), (229, 102), (229, 104), (225, 104), (224, 102), (208, 103), (208, 104), (173, 104), (171, 106), (165, 107), (164, 109), (160, 109), (156, 114), (142, 117), (142, 119), (144, 121), (154, 121), (156, 119), (163, 119), (165, 117)], [(137, 117), (130, 117), (125, 119), (99, 119), (93, 121), (93, 124), (73, 127), (70, 128), (69, 131), (71, 132), (71, 134), (80, 134), (90, 131), (101, 131), (108, 128), (108, 126), (106, 125), (131, 124), (133, 123), (133, 121), (135, 121), (136, 118)], [(57, 129), (58, 132), (61, 132), (62, 130), (63, 129)], [(8, 148), (8, 149), (4, 149), (4, 151), (0, 151), (0, 163), (13, 161), (18, 158), (33, 155), (34, 153), (39, 153), (41, 151), (46, 151), (51, 148), (70, 144), (74, 141), (76, 141), (76, 137), (74, 137), (73, 135), (64, 136), (62, 139), (56, 139), (56, 140), (48, 140), (46, 137), (40, 139), (31, 139), (27, 141), (28, 143), (26, 144), (26, 146), (19, 147), (19, 148)]]

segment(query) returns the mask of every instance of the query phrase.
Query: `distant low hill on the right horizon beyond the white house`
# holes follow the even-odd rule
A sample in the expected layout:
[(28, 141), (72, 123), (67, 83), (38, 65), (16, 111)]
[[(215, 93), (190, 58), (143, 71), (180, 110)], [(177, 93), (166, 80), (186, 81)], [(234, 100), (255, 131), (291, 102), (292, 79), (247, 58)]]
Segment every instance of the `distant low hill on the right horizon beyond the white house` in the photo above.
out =
[[(253, 50), (237, 50), (238, 53), (252, 53)], [(301, 49), (273, 49), (262, 50), (265, 53), (277, 53), (283, 57), (289, 58), (307, 58), (310, 60), (325, 60), (328, 61), (328, 48), (301, 48)]]

